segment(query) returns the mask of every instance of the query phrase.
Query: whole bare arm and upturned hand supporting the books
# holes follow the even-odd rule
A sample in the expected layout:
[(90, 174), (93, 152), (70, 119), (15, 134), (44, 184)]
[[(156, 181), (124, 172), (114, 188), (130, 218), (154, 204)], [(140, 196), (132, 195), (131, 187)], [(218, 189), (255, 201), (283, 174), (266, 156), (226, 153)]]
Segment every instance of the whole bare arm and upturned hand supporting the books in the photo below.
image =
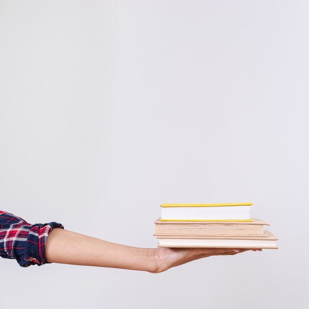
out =
[(48, 235), (46, 258), (51, 263), (145, 270), (155, 273), (200, 258), (214, 255), (234, 255), (247, 250), (136, 248), (56, 228)]

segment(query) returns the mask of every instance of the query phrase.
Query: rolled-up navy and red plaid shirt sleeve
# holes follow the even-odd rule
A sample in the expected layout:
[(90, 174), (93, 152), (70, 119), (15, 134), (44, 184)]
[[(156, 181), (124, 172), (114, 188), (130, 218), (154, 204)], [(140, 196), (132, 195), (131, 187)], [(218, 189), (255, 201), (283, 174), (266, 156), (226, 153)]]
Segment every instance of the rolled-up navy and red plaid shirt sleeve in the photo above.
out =
[(60, 223), (29, 224), (22, 218), (0, 211), (0, 256), (16, 259), (22, 267), (48, 263), (45, 245), (48, 233)]

